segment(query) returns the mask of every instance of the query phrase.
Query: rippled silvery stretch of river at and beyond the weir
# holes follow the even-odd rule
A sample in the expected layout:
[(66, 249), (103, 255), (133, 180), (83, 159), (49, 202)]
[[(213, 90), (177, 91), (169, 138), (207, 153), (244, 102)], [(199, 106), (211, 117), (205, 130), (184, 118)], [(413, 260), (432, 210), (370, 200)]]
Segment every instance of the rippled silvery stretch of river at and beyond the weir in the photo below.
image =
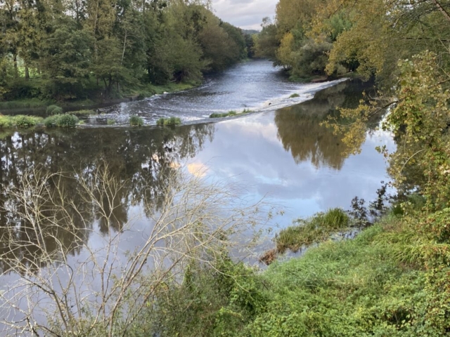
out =
[[(90, 116), (86, 124), (104, 125), (108, 119), (113, 119), (116, 125), (125, 126), (132, 115), (141, 117), (146, 125), (155, 125), (161, 117), (178, 117), (192, 124), (210, 120), (210, 114), (231, 110), (238, 113), (273, 111), (311, 100), (317, 91), (345, 80), (297, 84), (283, 77), (271, 62), (257, 60), (236, 65), (207, 79), (198, 88), (103, 108), (99, 114)], [(298, 97), (291, 98), (294, 93)]]

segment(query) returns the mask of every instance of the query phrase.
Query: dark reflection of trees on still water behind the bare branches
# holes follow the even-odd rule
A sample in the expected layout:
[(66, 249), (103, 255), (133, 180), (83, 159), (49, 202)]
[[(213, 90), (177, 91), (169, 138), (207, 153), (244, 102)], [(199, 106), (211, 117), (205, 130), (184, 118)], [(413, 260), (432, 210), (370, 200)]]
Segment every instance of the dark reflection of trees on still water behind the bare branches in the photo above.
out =
[[(117, 130), (111, 128), (75, 131), (25, 132), (4, 135), (0, 139), (0, 257), (23, 260), (24, 265), (39, 267), (39, 247), (46, 253), (65, 251), (76, 254), (84, 244), (94, 223), (101, 232), (116, 231), (129, 220), (129, 206), (141, 203), (158, 210), (161, 194), (166, 189), (167, 176), (173, 176), (182, 159), (193, 157), (207, 140), (212, 141), (214, 125), (193, 125), (179, 128)], [(114, 192), (96, 188), (96, 205), (80, 182), (101, 186), (95, 174), (99, 165), (108, 164), (111, 176), (120, 183)], [(63, 172), (63, 176), (47, 181), (42, 187), (39, 175)], [(28, 174), (27, 174), (28, 173)], [(32, 173), (32, 174), (30, 174)], [(21, 211), (18, 191), (32, 195), (41, 186), (48, 194), (41, 203), (46, 218), (53, 219), (44, 226), (46, 233), (34, 232), (33, 219)], [(98, 192), (101, 190), (102, 192)], [(110, 195), (108, 195), (108, 193)], [(52, 198), (64, 198), (68, 210), (58, 213), (52, 209)], [(33, 202), (30, 199), (30, 202)], [(72, 203), (72, 206), (70, 205)], [(70, 209), (76, 209), (72, 212)], [(109, 213), (109, 216), (98, 210)], [(53, 212), (53, 213), (52, 213)], [(58, 218), (59, 217), (59, 218)], [(52, 225), (53, 221), (58, 226)], [(60, 225), (63, 223), (63, 225)], [(30, 244), (42, 239), (41, 244)], [(27, 242), (27, 244), (23, 244)], [(0, 272), (8, 270), (2, 264)]]

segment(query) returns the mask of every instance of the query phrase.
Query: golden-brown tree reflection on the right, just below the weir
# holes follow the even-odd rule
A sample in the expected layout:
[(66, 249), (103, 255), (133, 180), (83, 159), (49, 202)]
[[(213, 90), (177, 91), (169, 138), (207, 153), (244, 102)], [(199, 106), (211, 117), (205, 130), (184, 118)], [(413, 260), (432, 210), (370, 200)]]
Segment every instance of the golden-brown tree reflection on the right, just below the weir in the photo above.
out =
[(313, 100), (278, 110), (275, 123), (278, 139), (297, 164), (311, 161), (319, 168), (340, 170), (346, 159), (342, 137), (320, 123), (337, 107), (356, 107), (361, 99), (361, 82), (346, 81), (316, 93)]

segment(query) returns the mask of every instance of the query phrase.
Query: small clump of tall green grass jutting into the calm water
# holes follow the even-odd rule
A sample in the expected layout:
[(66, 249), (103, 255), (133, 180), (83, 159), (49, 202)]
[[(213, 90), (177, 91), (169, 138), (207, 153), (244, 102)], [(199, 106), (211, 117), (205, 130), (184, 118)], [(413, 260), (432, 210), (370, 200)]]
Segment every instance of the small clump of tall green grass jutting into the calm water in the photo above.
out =
[(342, 232), (350, 225), (350, 218), (342, 209), (330, 209), (307, 219), (297, 219), (295, 225), (281, 230), (275, 237), (276, 250), (298, 251), (302, 246), (321, 242), (331, 234)]

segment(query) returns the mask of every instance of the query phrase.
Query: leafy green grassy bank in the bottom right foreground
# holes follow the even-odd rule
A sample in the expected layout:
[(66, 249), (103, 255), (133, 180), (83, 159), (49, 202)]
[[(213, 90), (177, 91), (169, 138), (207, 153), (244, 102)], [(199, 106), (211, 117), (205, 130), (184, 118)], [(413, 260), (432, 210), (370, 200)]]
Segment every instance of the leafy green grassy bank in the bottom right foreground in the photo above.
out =
[(140, 327), (161, 336), (448, 336), (450, 268), (430, 265), (437, 247), (411, 218), (391, 214), (354, 239), (320, 241), (264, 272), (228, 258), (192, 266), (152, 312), (158, 326), (144, 315)]

